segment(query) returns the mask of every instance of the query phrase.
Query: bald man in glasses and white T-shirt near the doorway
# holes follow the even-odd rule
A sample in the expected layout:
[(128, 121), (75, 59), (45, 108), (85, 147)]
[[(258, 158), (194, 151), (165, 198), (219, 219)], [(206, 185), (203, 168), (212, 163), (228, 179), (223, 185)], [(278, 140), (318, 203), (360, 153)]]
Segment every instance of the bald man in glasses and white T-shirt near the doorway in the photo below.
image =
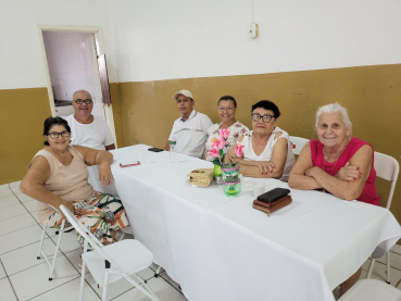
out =
[(72, 136), (71, 145), (83, 146), (97, 150), (114, 150), (113, 137), (108, 124), (102, 117), (93, 116), (93, 101), (86, 90), (78, 90), (73, 95), (75, 113), (63, 117), (67, 121)]

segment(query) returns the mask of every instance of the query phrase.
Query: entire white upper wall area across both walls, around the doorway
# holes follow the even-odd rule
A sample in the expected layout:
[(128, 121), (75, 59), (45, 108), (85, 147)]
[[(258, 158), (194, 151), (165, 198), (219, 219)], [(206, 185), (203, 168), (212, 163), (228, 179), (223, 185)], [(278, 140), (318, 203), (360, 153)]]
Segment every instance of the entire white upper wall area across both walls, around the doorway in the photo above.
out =
[(401, 62), (400, 0), (255, 0), (258, 39), (252, 11), (252, 0), (0, 0), (0, 89), (47, 86), (37, 24), (102, 27), (110, 81)]

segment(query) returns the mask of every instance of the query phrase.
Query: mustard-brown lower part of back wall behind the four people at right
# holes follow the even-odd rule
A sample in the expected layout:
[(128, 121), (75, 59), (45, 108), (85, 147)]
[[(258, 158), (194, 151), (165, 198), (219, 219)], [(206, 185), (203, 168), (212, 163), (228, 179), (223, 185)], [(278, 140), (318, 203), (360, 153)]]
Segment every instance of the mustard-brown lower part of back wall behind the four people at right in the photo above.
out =
[[(319, 105), (338, 101), (349, 109), (353, 136), (376, 151), (400, 160), (401, 64), (288, 72), (261, 75), (121, 83), (121, 120), (125, 146), (146, 143), (163, 148), (179, 116), (172, 96), (189, 89), (196, 110), (218, 122), (216, 103), (224, 95), (238, 101), (237, 120), (251, 126), (251, 105), (274, 101), (281, 111), (279, 126), (291, 136), (314, 138), (314, 113)], [(118, 136), (118, 134), (117, 134)], [(377, 183), (387, 199), (388, 187)], [(401, 187), (391, 211), (401, 221)]]

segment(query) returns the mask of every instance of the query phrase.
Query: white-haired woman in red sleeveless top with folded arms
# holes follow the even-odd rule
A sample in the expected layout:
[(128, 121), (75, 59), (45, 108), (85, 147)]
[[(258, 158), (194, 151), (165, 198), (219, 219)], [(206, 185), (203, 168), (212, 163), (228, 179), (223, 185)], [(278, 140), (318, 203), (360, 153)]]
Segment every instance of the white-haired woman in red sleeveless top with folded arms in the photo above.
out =
[[(338, 103), (316, 112), (318, 140), (302, 149), (289, 175), (291, 188), (322, 189), (339, 199), (380, 205), (375, 187), (373, 147), (351, 137), (352, 123), (347, 109)], [(362, 268), (341, 284), (340, 296), (359, 279)]]

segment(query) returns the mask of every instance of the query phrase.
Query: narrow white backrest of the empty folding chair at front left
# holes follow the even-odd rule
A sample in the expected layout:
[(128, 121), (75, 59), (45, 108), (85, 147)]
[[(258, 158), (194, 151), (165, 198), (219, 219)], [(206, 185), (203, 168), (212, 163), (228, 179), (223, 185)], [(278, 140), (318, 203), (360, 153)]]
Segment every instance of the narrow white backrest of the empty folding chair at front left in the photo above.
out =
[(104, 247), (91, 233), (90, 230), (85, 227), (83, 223), (79, 222), (78, 218), (64, 205), (60, 206), (61, 211), (64, 213), (65, 217), (68, 220), (71, 225), (79, 233), (86, 242), (90, 243), (90, 246), (101, 254), (105, 260), (108, 260), (114, 268), (121, 269), (121, 267), (102, 250)]

